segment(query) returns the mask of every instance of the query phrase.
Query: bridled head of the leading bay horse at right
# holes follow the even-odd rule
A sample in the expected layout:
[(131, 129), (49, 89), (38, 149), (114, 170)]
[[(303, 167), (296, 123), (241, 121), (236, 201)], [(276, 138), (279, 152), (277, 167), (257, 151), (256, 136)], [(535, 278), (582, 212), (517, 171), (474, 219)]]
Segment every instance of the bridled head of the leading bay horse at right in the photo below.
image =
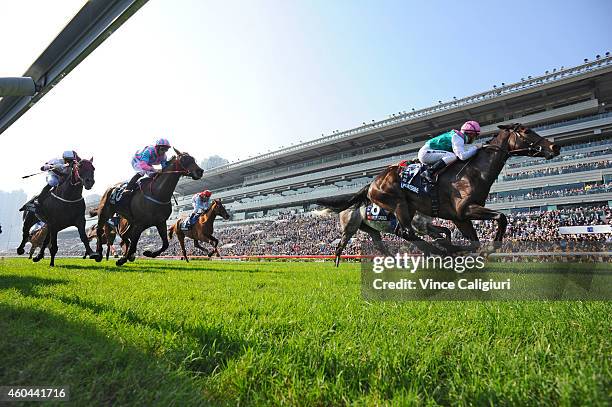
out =
[(502, 132), (508, 132), (508, 152), (512, 155), (543, 157), (550, 160), (561, 152), (561, 147), (522, 124), (515, 123), (498, 127)]

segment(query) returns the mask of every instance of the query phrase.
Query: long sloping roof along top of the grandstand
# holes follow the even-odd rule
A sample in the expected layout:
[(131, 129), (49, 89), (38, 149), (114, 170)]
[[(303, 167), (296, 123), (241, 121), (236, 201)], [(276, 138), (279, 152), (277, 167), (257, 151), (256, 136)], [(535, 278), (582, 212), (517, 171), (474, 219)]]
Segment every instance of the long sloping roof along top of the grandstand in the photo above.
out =
[(574, 67), (528, 77), (521, 82), (225, 164), (206, 171), (202, 180), (181, 182), (177, 191), (191, 193), (203, 184), (207, 188), (227, 187), (241, 183), (247, 174), (373, 143), (400, 138), (406, 143), (418, 142), (427, 139), (432, 132), (457, 126), (466, 119), (477, 119), (483, 124), (520, 121), (517, 116), (533, 113), (525, 110), (527, 106), (552, 106), (593, 99), (596, 88), (612, 97), (612, 57), (609, 54)]

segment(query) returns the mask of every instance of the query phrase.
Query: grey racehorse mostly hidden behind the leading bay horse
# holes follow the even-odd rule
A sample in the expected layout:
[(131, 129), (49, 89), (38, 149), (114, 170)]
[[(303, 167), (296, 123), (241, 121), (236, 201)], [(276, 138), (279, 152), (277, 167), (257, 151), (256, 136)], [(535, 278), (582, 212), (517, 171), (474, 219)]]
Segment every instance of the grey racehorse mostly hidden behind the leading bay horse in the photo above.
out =
[[(367, 190), (369, 185), (365, 187)], [(390, 220), (378, 221), (369, 220), (366, 214), (366, 209), (370, 205), (370, 201), (366, 200), (359, 204), (349, 206), (346, 208), (346, 203), (351, 199), (351, 195), (341, 195), (338, 197), (321, 198), (316, 201), (318, 205), (324, 206), (326, 209), (323, 211), (317, 211), (317, 214), (324, 214), (326, 212), (338, 213), (340, 216), (340, 230), (342, 230), (342, 236), (336, 246), (335, 252), (335, 265), (340, 265), (340, 260), (344, 248), (351, 240), (353, 235), (359, 230), (367, 233), (372, 238), (372, 242), (376, 249), (382, 254), (389, 256), (390, 252), (384, 245), (381, 237), (381, 233), (397, 234), (397, 227)], [(426, 234), (431, 236), (436, 242), (440, 243), (443, 247), (452, 246), (451, 243), (451, 231), (444, 226), (436, 226), (432, 223), (431, 217), (425, 216), (420, 213), (416, 213), (412, 219), (412, 227), (419, 234)], [(432, 249), (435, 253), (438, 252), (436, 248)]]

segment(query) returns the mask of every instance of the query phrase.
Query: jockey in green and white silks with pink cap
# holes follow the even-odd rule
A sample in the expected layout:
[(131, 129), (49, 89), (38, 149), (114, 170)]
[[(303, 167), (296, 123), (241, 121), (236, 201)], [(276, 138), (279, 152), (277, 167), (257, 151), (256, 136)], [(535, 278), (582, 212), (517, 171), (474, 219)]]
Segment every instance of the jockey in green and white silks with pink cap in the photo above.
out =
[(457, 159), (468, 160), (474, 156), (482, 143), (474, 144), (466, 148), (480, 134), (480, 124), (474, 120), (467, 121), (461, 126), (461, 130), (450, 130), (428, 140), (419, 150), (419, 161), (428, 164), (429, 167), (423, 172), (423, 178), (430, 183), (436, 182), (436, 173), (446, 166), (454, 163)]

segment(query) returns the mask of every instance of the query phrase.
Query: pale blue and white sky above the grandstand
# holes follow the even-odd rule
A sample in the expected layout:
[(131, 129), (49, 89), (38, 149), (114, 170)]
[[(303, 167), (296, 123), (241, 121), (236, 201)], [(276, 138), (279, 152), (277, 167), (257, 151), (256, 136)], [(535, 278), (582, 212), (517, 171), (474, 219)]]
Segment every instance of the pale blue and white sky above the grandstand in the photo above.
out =
[[(0, 76), (82, 4), (0, 0)], [(37, 192), (44, 176), (21, 175), (68, 149), (94, 157), (101, 194), (160, 137), (235, 161), (577, 65), (612, 48), (610, 15), (608, 0), (151, 0), (0, 135), (0, 190)]]

